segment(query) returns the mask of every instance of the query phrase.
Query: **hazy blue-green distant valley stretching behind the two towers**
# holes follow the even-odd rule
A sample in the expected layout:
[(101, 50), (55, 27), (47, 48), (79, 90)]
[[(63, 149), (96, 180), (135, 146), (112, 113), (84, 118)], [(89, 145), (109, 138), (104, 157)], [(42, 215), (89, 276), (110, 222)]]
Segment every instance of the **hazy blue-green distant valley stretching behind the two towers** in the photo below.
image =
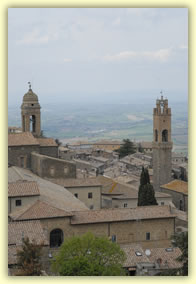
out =
[[(100, 139), (152, 141), (152, 104), (41, 104), (42, 130), (63, 143)], [(187, 153), (188, 107), (173, 103), (172, 140), (175, 151)], [(8, 125), (20, 126), (20, 106), (8, 108)]]

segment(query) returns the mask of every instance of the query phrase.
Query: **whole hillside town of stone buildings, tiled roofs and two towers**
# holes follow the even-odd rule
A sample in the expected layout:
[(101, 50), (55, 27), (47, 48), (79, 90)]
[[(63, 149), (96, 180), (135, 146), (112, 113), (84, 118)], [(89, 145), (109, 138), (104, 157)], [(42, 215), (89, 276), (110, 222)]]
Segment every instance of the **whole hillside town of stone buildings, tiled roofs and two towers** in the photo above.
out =
[[(152, 142), (62, 144), (43, 135), (41, 106), (29, 84), (21, 127), (8, 127), (9, 275), (20, 269), (26, 238), (41, 246), (40, 275), (53, 276), (51, 261), (64, 241), (89, 232), (120, 246), (126, 275), (182, 267), (172, 236), (188, 232), (188, 158), (172, 152), (168, 99), (161, 95), (155, 103)], [(125, 145), (131, 151), (122, 154)], [(148, 195), (140, 200), (145, 173), (155, 203)]]

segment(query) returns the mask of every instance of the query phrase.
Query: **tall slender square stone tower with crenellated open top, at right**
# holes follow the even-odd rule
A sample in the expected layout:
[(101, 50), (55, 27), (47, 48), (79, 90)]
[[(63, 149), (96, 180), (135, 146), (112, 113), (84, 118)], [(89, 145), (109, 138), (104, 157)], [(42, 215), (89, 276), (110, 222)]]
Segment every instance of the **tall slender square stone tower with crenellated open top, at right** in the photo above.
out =
[(160, 186), (171, 181), (172, 141), (171, 141), (171, 108), (168, 100), (156, 100), (153, 110), (153, 185), (159, 191)]

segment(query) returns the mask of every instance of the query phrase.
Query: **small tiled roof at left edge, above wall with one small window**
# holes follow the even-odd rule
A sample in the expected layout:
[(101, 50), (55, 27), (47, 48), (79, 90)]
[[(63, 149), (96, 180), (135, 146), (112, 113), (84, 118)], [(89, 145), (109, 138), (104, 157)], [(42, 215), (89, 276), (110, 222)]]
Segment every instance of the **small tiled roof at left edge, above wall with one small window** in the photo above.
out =
[(17, 181), (8, 184), (8, 196), (32, 196), (40, 195), (35, 181)]

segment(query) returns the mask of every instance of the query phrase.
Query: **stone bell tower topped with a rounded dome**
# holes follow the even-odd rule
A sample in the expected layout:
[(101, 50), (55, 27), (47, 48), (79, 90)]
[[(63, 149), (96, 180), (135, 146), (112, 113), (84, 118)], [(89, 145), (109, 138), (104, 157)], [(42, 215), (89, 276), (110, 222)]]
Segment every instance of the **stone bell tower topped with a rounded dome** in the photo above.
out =
[(41, 134), (41, 107), (38, 96), (31, 89), (30, 82), (28, 84), (29, 90), (23, 96), (21, 105), (22, 131), (32, 132), (35, 137), (39, 137)]

